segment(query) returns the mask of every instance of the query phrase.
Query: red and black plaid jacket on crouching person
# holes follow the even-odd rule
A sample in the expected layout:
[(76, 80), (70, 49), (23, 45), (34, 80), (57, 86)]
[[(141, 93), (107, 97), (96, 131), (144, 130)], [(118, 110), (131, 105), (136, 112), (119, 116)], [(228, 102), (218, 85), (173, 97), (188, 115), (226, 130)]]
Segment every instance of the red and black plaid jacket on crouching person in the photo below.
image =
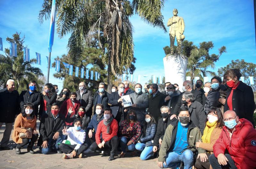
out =
[(133, 144), (136, 144), (138, 138), (141, 134), (141, 126), (139, 122), (134, 122), (132, 130), (127, 132), (127, 129), (130, 127), (130, 123), (127, 120), (122, 121), (120, 125), (120, 133), (126, 138), (130, 138)]

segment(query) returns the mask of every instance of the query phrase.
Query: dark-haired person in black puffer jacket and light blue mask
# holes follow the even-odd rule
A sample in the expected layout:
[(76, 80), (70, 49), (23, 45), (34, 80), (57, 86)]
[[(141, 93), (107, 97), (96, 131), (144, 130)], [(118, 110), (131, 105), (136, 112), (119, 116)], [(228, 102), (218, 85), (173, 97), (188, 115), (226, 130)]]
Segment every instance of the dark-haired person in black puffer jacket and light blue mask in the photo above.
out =
[(211, 79), (211, 90), (208, 92), (205, 100), (204, 111), (206, 114), (209, 113), (212, 107), (218, 106), (218, 99), (220, 98), (220, 83), (221, 78), (214, 76)]

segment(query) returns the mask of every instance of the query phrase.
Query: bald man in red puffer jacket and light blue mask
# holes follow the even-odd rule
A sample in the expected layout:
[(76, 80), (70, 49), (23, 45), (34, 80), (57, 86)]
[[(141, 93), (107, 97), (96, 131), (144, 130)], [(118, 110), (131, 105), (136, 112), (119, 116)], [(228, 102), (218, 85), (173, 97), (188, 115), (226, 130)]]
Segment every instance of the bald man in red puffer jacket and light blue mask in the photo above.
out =
[[(240, 119), (236, 112), (223, 114), (225, 126), (213, 145), (209, 160), (212, 168), (254, 169), (256, 166), (256, 130), (252, 123)], [(228, 152), (228, 153), (227, 153)]]

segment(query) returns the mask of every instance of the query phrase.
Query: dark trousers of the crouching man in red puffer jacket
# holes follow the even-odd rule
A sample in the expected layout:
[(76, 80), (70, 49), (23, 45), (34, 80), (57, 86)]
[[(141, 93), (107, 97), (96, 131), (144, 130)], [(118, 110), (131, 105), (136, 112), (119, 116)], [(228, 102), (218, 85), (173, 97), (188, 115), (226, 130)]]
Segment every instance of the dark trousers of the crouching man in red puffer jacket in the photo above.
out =
[(212, 165), (212, 168), (229, 168), (229, 169), (237, 169), (236, 167), (236, 164), (235, 162), (233, 161), (233, 159), (231, 158), (231, 156), (229, 154), (225, 154), (225, 156), (228, 158), (228, 164), (223, 166), (223, 165), (220, 165), (219, 162), (218, 162), (218, 159), (214, 156), (214, 154), (211, 154), (210, 157), (209, 157), (209, 161), (210, 161), (210, 164)]

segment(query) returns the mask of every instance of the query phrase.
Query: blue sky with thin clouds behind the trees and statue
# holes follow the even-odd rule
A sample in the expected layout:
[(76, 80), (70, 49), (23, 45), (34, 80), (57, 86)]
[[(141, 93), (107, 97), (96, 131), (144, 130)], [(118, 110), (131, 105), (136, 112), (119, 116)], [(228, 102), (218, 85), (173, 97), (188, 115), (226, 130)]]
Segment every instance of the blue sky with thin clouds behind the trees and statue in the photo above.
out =
[[(48, 56), (50, 21), (46, 20), (42, 25), (38, 21), (42, 3), (39, 0), (3, 0), (0, 6), (0, 37), (3, 38), (3, 47), (9, 48), (9, 43), (5, 41), (7, 36), (11, 37), (16, 31), (25, 35), (25, 46), (30, 49), (30, 57), (35, 57), (35, 52), (41, 54), (42, 65), (35, 66), (41, 68), (46, 76), (45, 56)], [(213, 71), (217, 72), (218, 68), (235, 59), (256, 63), (253, 0), (166, 1), (162, 11), (165, 25), (172, 17), (173, 8), (177, 8), (178, 15), (184, 19), (186, 40), (193, 41), (195, 45), (213, 41), (214, 48), (210, 53), (217, 54), (218, 48), (227, 47), (227, 53), (216, 62)], [(131, 22), (134, 28), (134, 56), (137, 58), (133, 77), (137, 79), (138, 75), (148, 75), (148, 78), (141, 79), (141, 84), (144, 84), (151, 75), (164, 76), (163, 47), (170, 45), (169, 34), (144, 23), (137, 15), (132, 16)], [(69, 38), (60, 39), (56, 33), (54, 37), (52, 62), (56, 56), (67, 54)], [(55, 69), (52, 68), (50, 74), (53, 73)], [(62, 86), (62, 81), (52, 76), (50, 82)]]

